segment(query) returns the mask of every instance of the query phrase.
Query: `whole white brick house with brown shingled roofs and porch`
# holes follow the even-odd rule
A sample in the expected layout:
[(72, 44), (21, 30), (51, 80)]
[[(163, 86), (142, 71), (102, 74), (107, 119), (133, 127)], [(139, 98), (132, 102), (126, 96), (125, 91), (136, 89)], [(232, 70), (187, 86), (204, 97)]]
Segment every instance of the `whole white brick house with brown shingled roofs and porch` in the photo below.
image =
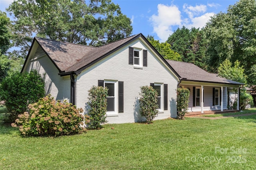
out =
[[(92, 86), (108, 87), (108, 123), (145, 120), (139, 114), (141, 86), (158, 90), (156, 119), (164, 119), (177, 115), (178, 86), (191, 89), (190, 111), (196, 111), (226, 108), (226, 87), (241, 85), (205, 72), (194, 64), (165, 60), (141, 33), (101, 47), (35, 37), (22, 72), (32, 69), (44, 75), (46, 94), (82, 107), (85, 113), (88, 90)], [(210, 104), (213, 94), (214, 106)]]

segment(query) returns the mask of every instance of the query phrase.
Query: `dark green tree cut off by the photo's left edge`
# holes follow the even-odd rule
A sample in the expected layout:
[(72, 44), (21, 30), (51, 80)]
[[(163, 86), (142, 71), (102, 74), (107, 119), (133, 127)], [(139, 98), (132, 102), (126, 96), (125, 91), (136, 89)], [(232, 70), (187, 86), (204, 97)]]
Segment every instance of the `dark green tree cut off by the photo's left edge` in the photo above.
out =
[(10, 32), (10, 18), (6, 13), (0, 11), (0, 82), (8, 74), (10, 70), (10, 61), (6, 56), (7, 50), (10, 48), (10, 39), (12, 37)]

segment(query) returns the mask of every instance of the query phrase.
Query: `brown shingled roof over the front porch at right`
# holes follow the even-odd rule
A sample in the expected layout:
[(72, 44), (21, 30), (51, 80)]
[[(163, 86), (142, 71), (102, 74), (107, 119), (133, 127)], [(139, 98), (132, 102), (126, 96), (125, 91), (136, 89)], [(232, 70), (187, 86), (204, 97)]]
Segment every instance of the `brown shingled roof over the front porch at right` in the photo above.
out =
[(221, 84), (242, 85), (243, 83), (219, 77), (218, 74), (209, 73), (192, 63), (166, 60), (184, 81), (209, 82)]

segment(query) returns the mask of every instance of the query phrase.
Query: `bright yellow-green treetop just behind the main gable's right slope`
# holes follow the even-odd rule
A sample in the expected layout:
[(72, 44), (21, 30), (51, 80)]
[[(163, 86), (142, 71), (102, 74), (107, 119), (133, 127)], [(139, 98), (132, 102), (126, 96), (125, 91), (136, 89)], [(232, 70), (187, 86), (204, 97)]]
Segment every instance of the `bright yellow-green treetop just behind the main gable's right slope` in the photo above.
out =
[(180, 55), (171, 49), (170, 44), (166, 42), (160, 43), (159, 40), (155, 40), (151, 35), (148, 35), (146, 38), (165, 59), (181, 61)]

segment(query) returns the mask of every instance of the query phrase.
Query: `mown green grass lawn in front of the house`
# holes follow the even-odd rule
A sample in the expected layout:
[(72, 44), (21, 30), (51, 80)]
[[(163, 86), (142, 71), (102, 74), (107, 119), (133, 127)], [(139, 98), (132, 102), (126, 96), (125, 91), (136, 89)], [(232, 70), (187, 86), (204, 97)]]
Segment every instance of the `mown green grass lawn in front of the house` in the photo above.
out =
[[(114, 129), (111, 129), (114, 127)], [(256, 115), (107, 124), (63, 137), (21, 137), (0, 124), (2, 170), (250, 170)]]

